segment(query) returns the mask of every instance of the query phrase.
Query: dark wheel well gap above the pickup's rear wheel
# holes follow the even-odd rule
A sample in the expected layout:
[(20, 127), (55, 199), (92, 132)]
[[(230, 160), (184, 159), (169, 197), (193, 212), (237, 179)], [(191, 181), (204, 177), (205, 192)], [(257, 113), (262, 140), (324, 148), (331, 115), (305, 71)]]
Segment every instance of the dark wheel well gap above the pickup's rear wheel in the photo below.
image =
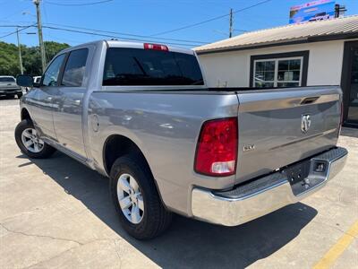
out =
[(107, 175), (109, 175), (115, 160), (129, 153), (134, 153), (141, 156), (149, 168), (149, 164), (140, 148), (134, 142), (132, 142), (131, 139), (119, 134), (109, 136), (103, 149), (103, 160)]

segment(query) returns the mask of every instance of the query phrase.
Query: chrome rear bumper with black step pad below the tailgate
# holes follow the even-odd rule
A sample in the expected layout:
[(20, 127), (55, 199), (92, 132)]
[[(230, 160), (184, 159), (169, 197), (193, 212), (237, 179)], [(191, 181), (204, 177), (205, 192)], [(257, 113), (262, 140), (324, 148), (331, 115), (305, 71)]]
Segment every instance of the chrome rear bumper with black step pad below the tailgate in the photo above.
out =
[[(287, 204), (294, 204), (324, 187), (343, 169), (347, 153), (344, 148), (334, 148), (312, 157), (306, 161), (308, 175), (294, 184), (290, 184), (288, 167), (230, 191), (193, 188), (192, 214), (196, 219), (226, 226), (259, 218)], [(323, 164), (324, 170), (318, 172), (317, 166), (320, 164)], [(294, 164), (297, 165), (300, 163)]]

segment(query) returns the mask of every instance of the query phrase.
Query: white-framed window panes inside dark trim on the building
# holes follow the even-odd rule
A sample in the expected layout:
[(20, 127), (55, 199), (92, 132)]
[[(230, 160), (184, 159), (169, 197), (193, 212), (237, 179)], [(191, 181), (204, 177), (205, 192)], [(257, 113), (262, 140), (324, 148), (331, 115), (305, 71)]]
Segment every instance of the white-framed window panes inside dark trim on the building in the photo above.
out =
[(256, 60), (254, 87), (298, 87), (301, 86), (303, 57)]

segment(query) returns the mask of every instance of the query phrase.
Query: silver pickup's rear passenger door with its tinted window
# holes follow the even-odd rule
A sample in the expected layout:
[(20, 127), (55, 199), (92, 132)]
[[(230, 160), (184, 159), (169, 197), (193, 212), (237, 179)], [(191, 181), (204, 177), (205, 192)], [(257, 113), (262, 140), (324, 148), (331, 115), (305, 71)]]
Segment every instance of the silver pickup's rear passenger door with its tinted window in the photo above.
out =
[(58, 91), (54, 97), (54, 125), (58, 143), (86, 158), (82, 135), (82, 104), (86, 94), (86, 63), (89, 48), (69, 52)]

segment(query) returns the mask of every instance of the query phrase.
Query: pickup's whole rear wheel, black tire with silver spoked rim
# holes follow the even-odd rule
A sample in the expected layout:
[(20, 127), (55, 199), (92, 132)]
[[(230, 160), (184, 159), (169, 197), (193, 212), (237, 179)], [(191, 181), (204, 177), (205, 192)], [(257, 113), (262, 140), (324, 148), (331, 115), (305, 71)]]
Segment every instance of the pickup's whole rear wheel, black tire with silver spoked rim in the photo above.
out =
[(135, 239), (153, 239), (169, 226), (151, 172), (140, 156), (118, 158), (110, 173), (110, 192), (124, 230)]

